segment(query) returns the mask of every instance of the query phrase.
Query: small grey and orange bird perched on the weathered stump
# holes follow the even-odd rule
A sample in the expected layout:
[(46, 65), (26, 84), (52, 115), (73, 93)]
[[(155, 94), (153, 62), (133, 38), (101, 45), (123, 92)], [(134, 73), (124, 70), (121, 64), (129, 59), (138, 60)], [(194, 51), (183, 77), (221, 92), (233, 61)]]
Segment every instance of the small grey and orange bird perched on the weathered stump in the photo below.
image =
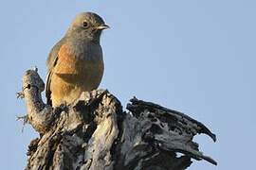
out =
[(46, 61), (47, 104), (69, 104), (82, 92), (99, 87), (104, 70), (100, 38), (106, 28), (109, 26), (96, 13), (82, 12), (76, 16)]

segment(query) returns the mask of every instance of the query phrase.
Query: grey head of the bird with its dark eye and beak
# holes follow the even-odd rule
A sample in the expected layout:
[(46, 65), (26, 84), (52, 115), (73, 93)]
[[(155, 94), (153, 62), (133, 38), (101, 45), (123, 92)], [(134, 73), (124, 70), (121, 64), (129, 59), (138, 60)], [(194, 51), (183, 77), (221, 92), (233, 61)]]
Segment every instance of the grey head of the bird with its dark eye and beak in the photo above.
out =
[(82, 12), (76, 16), (69, 26), (66, 36), (84, 39), (86, 41), (100, 42), (101, 32), (109, 26), (103, 19), (93, 12)]

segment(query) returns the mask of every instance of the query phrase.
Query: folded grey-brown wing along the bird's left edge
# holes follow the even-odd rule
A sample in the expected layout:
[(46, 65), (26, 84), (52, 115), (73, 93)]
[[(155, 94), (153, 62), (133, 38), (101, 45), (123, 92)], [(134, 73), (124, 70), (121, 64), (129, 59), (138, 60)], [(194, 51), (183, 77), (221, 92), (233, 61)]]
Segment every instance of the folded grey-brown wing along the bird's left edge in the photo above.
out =
[(51, 76), (52, 71), (54, 67), (56, 66), (58, 62), (58, 53), (62, 45), (64, 44), (64, 39), (62, 39), (60, 42), (56, 43), (53, 48), (51, 49), (48, 58), (46, 60), (46, 66), (47, 66), (47, 76), (46, 76), (46, 101), (48, 105), (51, 105), (51, 91), (50, 91), (50, 83), (51, 83)]

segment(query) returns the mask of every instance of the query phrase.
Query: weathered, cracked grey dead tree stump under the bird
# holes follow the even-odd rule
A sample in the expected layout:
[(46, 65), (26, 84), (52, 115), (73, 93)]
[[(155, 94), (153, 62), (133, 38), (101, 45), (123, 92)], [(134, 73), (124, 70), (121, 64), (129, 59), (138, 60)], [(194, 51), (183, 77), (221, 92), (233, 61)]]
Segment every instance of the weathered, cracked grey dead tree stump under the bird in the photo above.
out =
[(217, 164), (192, 142), (198, 133), (214, 142), (215, 135), (184, 113), (137, 98), (124, 111), (107, 90), (52, 109), (42, 100), (44, 86), (36, 70), (23, 76), (27, 122), (40, 133), (28, 146), (27, 170), (182, 170), (192, 159)]

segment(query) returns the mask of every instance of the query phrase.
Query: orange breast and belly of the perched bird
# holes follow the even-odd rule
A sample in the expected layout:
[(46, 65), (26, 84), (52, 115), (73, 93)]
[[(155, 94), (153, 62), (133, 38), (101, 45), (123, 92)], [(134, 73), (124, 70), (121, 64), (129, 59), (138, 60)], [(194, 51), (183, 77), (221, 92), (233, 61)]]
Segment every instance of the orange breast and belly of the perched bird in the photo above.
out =
[(63, 45), (52, 71), (51, 99), (53, 106), (58, 106), (74, 101), (83, 91), (97, 89), (103, 75), (103, 62), (77, 58)]

